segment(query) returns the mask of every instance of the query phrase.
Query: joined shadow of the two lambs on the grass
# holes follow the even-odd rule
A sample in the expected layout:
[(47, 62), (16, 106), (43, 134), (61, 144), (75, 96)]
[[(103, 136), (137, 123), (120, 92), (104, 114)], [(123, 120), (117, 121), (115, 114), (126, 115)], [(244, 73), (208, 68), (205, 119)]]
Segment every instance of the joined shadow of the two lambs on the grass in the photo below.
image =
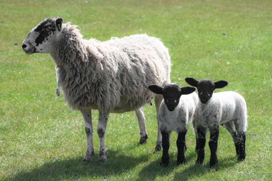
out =
[[(168, 167), (162, 167), (159, 165), (160, 160), (153, 161), (149, 165), (145, 166), (139, 173), (137, 181), (141, 180), (156, 180), (156, 177), (168, 175), (171, 180), (191, 180), (196, 177), (205, 176), (210, 172), (217, 172), (218, 170), (224, 170), (229, 167), (233, 167), (238, 162), (236, 157), (226, 157), (220, 160), (217, 167), (209, 168), (209, 161), (203, 164), (195, 163), (197, 158), (196, 153), (189, 153), (185, 155), (186, 164), (177, 166), (176, 160), (170, 160)], [(209, 160), (209, 158), (205, 158)], [(154, 168), (157, 168), (154, 170)]]

